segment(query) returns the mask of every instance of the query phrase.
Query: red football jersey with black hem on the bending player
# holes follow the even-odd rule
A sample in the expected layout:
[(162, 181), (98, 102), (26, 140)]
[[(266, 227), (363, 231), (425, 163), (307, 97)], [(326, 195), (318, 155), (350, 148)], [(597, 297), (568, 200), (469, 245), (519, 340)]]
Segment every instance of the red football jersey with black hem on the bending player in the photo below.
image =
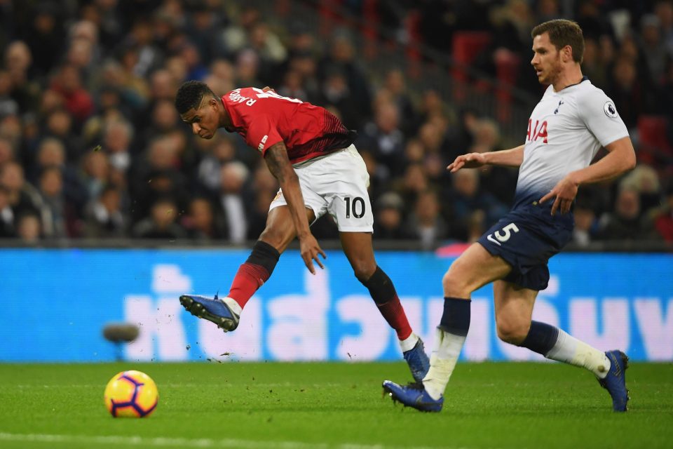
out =
[(324, 107), (273, 91), (238, 88), (222, 95), (222, 103), (233, 123), (227, 130), (242, 135), (262, 156), (282, 141), (290, 162), (298, 163), (346, 148), (355, 140), (355, 132)]

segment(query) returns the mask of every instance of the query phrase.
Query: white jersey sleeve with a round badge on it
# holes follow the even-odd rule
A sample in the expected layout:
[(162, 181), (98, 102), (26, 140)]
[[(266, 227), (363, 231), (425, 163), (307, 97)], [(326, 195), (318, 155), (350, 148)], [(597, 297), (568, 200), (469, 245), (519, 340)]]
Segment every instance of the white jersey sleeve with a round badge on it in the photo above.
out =
[(600, 89), (578, 97), (578, 112), (587, 128), (604, 147), (629, 135), (615, 104)]

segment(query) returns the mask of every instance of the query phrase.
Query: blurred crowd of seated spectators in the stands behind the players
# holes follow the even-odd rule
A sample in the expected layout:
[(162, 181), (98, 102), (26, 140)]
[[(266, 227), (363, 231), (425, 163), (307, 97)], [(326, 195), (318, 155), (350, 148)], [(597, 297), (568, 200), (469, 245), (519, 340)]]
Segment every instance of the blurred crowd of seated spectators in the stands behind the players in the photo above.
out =
[[(491, 32), (494, 45), (477, 61), (486, 72), (501, 51), (527, 62), (533, 25), (574, 18), (587, 41), (583, 71), (616, 102), (636, 144), (640, 114), (673, 119), (673, 1), (386, 4), (395, 8), (382, 26), (399, 27), (415, 8), (424, 43), (447, 53), (452, 32)], [(508, 210), (516, 170), (445, 170), (458, 154), (503, 149), (494, 119), (431, 89), (412, 95), (401, 69), (374, 76), (353, 30), (327, 40), (309, 30), (245, 2), (0, 0), (0, 238), (257, 239), (278, 184), (238, 135), (190, 134), (173, 105), (189, 79), (221, 95), (273, 86), (358, 130), (375, 239), (474, 241)], [(537, 95), (527, 69), (519, 87)], [(618, 182), (583, 187), (576, 243), (673, 241), (673, 182), (663, 173), (641, 162)], [(329, 218), (313, 232), (338, 237)]]

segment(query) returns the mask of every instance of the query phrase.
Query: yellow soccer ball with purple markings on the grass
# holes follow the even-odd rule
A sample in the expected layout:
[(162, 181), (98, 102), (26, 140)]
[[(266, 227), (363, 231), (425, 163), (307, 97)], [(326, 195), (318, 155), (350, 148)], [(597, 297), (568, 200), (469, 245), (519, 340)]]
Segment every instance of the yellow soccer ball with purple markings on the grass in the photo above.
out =
[(154, 412), (159, 392), (149, 375), (135, 370), (122, 371), (107, 382), (104, 400), (114, 417), (144, 418)]

